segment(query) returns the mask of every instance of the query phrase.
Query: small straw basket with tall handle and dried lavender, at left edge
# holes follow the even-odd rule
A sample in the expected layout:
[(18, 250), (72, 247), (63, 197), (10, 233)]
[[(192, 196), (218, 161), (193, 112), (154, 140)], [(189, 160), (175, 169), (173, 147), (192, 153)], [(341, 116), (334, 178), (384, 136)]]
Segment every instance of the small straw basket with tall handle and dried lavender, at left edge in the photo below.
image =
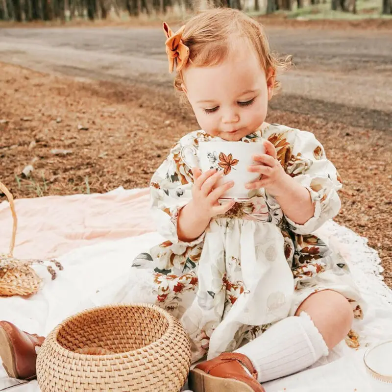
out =
[[(3, 192), (8, 199), (13, 219), (9, 252), (7, 254), (0, 253), (0, 296), (34, 294), (40, 289), (42, 279), (30, 266), (32, 264), (45, 263), (42, 260), (20, 260), (13, 257), (18, 218), (16, 216), (14, 198), (2, 182), (0, 182), (0, 191)], [(60, 270), (63, 269), (58, 261), (50, 261), (54, 263)], [(52, 275), (52, 279), (54, 279), (56, 272), (51, 266), (47, 266), (47, 269)]]

